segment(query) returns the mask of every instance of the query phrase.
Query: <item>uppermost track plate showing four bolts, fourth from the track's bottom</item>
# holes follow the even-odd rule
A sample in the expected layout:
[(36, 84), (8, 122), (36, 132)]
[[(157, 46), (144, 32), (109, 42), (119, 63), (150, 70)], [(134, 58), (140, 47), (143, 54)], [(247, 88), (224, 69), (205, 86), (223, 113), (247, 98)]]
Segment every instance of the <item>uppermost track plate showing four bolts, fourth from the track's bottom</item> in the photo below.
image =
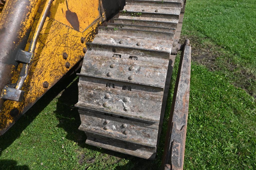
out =
[[(95, 40), (95, 39), (94, 39)], [(84, 75), (132, 81), (138, 84), (149, 84), (164, 88), (168, 65), (167, 60), (159, 59), (152, 63), (148, 57), (138, 57), (136, 61), (123, 57), (122, 59), (110, 56), (86, 54), (81, 72)], [(88, 57), (87, 57), (88, 56)], [(99, 70), (101, 68), (101, 70)], [(132, 76), (132, 79), (130, 79)]]

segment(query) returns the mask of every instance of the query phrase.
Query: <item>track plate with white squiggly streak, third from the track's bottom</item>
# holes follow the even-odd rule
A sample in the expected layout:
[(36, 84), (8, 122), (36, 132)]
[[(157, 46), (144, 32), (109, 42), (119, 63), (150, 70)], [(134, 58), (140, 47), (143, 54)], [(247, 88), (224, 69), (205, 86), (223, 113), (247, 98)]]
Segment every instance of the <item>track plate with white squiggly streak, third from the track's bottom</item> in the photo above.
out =
[(78, 91), (76, 106), (81, 110), (114, 114), (148, 124), (159, 122), (162, 96), (84, 83), (78, 83)]

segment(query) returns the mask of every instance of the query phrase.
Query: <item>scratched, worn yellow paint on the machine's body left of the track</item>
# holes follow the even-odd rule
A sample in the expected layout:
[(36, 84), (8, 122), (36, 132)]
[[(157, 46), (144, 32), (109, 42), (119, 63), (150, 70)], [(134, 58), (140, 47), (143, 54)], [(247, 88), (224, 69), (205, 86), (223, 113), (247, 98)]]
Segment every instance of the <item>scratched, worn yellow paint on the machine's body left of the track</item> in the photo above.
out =
[[(15, 118), (10, 116), (10, 111), (13, 108), (17, 108), (19, 110), (19, 115), (17, 117), (21, 116), (45, 92), (47, 92), (50, 87), (52, 87), (63, 75), (65, 75), (76, 63), (80, 61), (84, 55), (83, 48), (86, 47), (85, 43), (91, 42), (94, 39), (95, 29), (102, 23), (102, 17), (100, 17), (98, 10), (98, 0), (97, 2), (94, 0), (83, 0), (87, 5), (83, 6), (82, 10), (80, 8), (75, 10), (70, 4), (70, 6), (68, 6), (69, 10), (76, 11), (77, 16), (81, 17), (80, 21), (84, 21), (84, 24), (81, 24), (81, 27), (79, 27), (81, 30), (82, 28), (87, 28), (90, 25), (90, 27), (83, 32), (81, 32), (81, 30), (75, 30), (67, 23), (67, 21), (65, 21), (65, 19), (61, 19), (61, 15), (63, 15), (62, 10), (60, 10), (60, 7), (57, 7), (58, 3), (61, 4), (60, 2), (63, 1), (55, 0), (54, 5), (50, 9), (51, 13), (55, 13), (54, 16), (56, 16), (56, 19), (52, 18), (52, 14), (50, 17), (47, 17), (44, 27), (40, 32), (40, 36), (36, 44), (34, 60), (30, 67), (29, 75), (22, 88), (22, 90), (25, 91), (23, 101), (15, 102), (7, 100), (4, 102), (3, 108), (0, 111), (0, 135), (15, 123)], [(70, 0), (67, 2), (70, 3), (72, 1)], [(76, 2), (76, 4), (77, 2), (82, 3), (82, 1), (73, 2)], [(43, 5), (44, 2), (42, 1), (41, 6)], [(92, 8), (93, 6), (97, 6), (97, 8)], [(91, 10), (95, 11), (92, 12)], [(84, 11), (91, 11), (91, 13), (90, 16), (88, 16), (89, 18), (84, 17), (82, 20)], [(37, 13), (35, 21), (39, 19), (40, 15), (41, 13)], [(34, 22), (25, 51), (28, 50), (30, 45), (29, 42), (33, 36), (36, 25), (37, 22)], [(85, 38), (84, 43), (81, 43), (81, 37)], [(63, 58), (63, 52), (68, 54), (67, 59)], [(70, 63), (70, 68), (66, 68), (66, 62)], [(12, 77), (13, 83), (17, 81), (21, 68), (22, 64), (18, 66), (14, 76)], [(49, 83), (49, 87), (47, 89), (42, 86), (45, 81)]]

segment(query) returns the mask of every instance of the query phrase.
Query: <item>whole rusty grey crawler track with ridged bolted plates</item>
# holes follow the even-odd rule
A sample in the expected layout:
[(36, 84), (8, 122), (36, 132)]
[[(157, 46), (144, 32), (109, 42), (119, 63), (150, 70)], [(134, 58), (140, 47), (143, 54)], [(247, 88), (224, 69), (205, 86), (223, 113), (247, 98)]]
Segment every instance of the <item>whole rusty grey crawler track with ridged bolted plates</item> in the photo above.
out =
[(87, 44), (76, 104), (87, 144), (155, 158), (183, 5), (126, 0), (119, 18)]

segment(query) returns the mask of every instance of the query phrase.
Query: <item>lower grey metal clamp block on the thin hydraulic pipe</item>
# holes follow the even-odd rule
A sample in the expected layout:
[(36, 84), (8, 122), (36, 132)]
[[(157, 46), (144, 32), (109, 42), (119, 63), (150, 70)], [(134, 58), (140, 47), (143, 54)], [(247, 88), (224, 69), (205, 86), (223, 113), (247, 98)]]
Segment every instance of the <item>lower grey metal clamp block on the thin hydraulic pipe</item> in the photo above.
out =
[(12, 87), (5, 86), (2, 91), (0, 99), (20, 102), (22, 101), (23, 95), (24, 95), (23, 90), (18, 90)]

